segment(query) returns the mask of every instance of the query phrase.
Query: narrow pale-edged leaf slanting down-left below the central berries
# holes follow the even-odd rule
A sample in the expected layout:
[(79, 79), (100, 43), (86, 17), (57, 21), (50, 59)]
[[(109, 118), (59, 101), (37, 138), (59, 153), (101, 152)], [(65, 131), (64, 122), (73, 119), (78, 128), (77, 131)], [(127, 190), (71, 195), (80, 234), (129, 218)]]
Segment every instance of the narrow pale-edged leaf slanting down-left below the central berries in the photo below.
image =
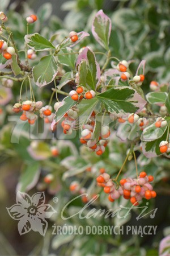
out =
[(65, 113), (69, 111), (69, 109), (75, 104), (76, 102), (73, 101), (70, 96), (65, 97), (61, 102), (61, 107), (56, 111), (56, 116), (54, 118), (55, 122), (57, 123), (59, 120), (61, 120), (63, 115), (65, 115)]

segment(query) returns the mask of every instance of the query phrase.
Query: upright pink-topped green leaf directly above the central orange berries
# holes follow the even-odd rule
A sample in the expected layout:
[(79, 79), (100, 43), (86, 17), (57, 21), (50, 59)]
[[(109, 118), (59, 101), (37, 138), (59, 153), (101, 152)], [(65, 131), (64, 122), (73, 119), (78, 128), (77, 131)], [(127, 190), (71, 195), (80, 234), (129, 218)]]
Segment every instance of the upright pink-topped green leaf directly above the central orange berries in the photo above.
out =
[[(100, 66), (90, 48), (86, 47), (78, 56), (76, 68), (79, 65), (79, 84), (87, 89), (95, 90), (100, 83)], [(86, 67), (84, 67), (84, 65)], [(86, 72), (81, 72), (86, 68)]]

